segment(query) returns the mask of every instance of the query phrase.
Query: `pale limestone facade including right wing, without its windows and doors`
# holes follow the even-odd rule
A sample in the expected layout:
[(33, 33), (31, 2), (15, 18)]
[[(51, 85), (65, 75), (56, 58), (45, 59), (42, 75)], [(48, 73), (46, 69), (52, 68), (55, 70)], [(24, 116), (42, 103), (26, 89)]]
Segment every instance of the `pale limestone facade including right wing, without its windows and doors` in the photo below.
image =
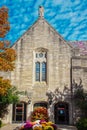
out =
[[(55, 91), (56, 88), (62, 92), (64, 86), (69, 89), (71, 80), (82, 79), (83, 85), (87, 86), (87, 58), (81, 56), (79, 51), (75, 50), (60, 34), (44, 19), (44, 15), (40, 14), (38, 20), (31, 26), (25, 34), (13, 45), (17, 52), (15, 61), (15, 70), (9, 74), (12, 84), (18, 90), (26, 91), (27, 96), (21, 96), (20, 101), (26, 103), (26, 119), (33, 106), (38, 102), (47, 102), (46, 93)], [(35, 80), (35, 59), (36, 53), (46, 53), (46, 80)], [(28, 102), (30, 101), (30, 102)], [(68, 124), (73, 123), (72, 104), (69, 99), (62, 99), (62, 102), (69, 104)], [(55, 103), (58, 103), (57, 100)], [(50, 116), (55, 122), (55, 103), (49, 107)], [(12, 110), (7, 116), (7, 122), (12, 123)], [(10, 117), (10, 119), (9, 119)], [(9, 121), (8, 121), (9, 119)]]

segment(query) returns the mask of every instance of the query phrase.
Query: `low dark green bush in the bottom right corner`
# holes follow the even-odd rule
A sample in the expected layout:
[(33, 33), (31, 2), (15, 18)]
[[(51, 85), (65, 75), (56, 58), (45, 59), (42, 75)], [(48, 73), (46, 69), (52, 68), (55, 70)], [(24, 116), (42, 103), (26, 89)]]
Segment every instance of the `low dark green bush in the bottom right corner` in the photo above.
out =
[(87, 118), (81, 118), (77, 123), (76, 127), (78, 130), (87, 130)]

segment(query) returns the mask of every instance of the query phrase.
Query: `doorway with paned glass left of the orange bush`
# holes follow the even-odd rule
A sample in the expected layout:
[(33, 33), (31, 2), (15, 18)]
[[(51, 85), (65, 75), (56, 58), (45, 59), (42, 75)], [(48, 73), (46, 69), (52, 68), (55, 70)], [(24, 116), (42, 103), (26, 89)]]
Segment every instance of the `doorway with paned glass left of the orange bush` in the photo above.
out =
[(12, 122), (24, 122), (26, 121), (26, 103), (20, 102), (13, 104)]

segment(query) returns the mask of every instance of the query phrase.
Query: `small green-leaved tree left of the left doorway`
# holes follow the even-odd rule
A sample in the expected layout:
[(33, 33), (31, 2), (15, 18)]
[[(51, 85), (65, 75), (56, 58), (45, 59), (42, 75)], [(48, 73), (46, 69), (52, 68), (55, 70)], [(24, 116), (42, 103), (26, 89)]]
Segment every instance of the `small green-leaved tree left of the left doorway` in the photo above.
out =
[(6, 93), (0, 94), (0, 118), (3, 118), (5, 114), (8, 114), (8, 106), (11, 103), (17, 103), (19, 92), (16, 87), (11, 86), (6, 90)]

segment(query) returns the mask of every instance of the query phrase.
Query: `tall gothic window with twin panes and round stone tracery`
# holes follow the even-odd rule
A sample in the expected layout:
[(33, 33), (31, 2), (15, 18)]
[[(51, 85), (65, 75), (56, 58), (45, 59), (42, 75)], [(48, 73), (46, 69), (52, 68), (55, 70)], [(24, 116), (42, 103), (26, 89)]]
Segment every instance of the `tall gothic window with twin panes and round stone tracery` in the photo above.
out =
[(47, 52), (37, 51), (35, 53), (35, 81), (47, 81)]

